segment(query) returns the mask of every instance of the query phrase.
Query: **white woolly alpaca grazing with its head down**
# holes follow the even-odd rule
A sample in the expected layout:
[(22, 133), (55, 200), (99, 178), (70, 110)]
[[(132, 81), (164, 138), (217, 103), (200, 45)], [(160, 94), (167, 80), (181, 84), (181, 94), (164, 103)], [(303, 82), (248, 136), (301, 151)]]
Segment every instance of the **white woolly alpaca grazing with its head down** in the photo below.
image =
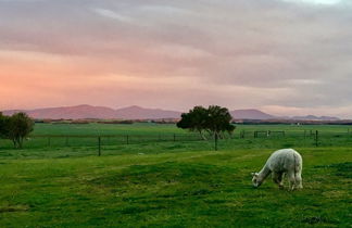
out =
[(289, 179), (290, 189), (303, 188), (302, 186), (302, 156), (293, 149), (282, 149), (275, 151), (260, 173), (252, 173), (253, 186), (260, 187), (265, 178), (273, 173), (273, 180), (282, 188), (284, 175)]

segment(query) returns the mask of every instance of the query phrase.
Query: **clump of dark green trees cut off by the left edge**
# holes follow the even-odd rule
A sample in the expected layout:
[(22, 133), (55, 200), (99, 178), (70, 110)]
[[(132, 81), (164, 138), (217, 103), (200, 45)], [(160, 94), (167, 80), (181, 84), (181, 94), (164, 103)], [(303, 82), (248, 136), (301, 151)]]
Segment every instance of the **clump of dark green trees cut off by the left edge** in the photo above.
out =
[(0, 138), (10, 139), (15, 148), (22, 148), (24, 139), (33, 131), (34, 124), (26, 113), (12, 116), (0, 113)]

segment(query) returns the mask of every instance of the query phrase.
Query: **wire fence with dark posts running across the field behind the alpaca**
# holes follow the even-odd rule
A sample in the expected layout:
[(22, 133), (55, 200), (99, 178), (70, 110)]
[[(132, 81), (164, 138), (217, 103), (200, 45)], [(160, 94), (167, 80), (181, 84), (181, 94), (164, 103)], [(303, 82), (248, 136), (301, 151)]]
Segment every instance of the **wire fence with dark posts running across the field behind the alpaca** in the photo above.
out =
[[(204, 141), (199, 134), (151, 134), (151, 135), (33, 135), (25, 141), (26, 149), (91, 148), (99, 155), (113, 147), (131, 144), (152, 144), (159, 142), (192, 143), (201, 148), (213, 147), (214, 138), (206, 136)], [(141, 145), (143, 147), (143, 145)], [(217, 147), (217, 145), (214, 145)], [(248, 148), (304, 148), (304, 147), (345, 147), (352, 148), (352, 131), (324, 130), (241, 130), (218, 139), (219, 149)], [(10, 140), (0, 140), (1, 149), (11, 149)]]

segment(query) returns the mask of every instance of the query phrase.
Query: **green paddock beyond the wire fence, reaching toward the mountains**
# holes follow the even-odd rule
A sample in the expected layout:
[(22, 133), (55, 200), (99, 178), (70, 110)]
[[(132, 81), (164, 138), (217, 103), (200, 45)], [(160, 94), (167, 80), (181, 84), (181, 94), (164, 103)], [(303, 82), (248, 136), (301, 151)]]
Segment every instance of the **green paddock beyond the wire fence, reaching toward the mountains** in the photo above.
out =
[[(242, 130), (246, 130), (244, 139), (240, 138)], [(264, 135), (254, 138), (254, 130), (284, 130), (286, 136), (274, 134), (269, 138)], [(232, 138), (222, 140), (219, 148), (221, 150), (310, 148), (315, 147), (314, 136), (310, 136), (311, 130), (318, 130), (319, 147), (352, 148), (352, 130), (349, 130), (349, 126), (337, 125), (238, 125)], [(103, 154), (138, 153), (140, 150), (148, 153), (204, 151), (214, 148), (212, 141), (199, 141), (200, 137), (197, 134), (190, 134), (168, 124), (37, 124), (35, 131), (25, 141), (23, 151), (14, 151), (10, 140), (0, 140), (0, 157), (40, 159), (92, 155), (98, 151), (98, 136), (102, 139)]]

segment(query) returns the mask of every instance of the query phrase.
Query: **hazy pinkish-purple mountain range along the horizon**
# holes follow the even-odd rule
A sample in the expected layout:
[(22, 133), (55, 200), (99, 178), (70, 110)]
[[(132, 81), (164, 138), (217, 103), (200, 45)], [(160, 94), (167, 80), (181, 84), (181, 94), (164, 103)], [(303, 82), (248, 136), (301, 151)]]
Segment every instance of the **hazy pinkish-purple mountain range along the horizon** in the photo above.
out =
[[(162, 119), (162, 118), (179, 118), (181, 112), (167, 111), (161, 109), (146, 109), (140, 106), (128, 106), (124, 109), (113, 110), (105, 106), (77, 105), (62, 107), (47, 107), (36, 110), (9, 110), (3, 111), (4, 115), (12, 115), (17, 112), (25, 112), (33, 118), (51, 118), (51, 119)], [(230, 112), (236, 119), (297, 119), (297, 121), (339, 121), (337, 117), (330, 116), (293, 116), (279, 117), (269, 115), (259, 110), (235, 110)]]

